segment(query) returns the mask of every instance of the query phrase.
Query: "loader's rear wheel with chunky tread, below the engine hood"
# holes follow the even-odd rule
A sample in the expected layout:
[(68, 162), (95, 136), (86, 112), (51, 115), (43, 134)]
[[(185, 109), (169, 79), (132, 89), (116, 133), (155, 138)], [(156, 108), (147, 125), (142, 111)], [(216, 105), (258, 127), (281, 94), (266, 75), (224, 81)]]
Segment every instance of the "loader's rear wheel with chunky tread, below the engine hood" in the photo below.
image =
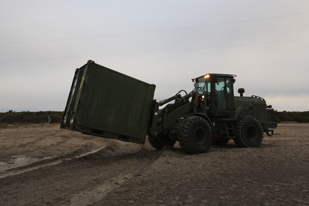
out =
[(238, 147), (258, 147), (263, 141), (263, 129), (258, 120), (245, 116), (235, 124), (235, 144)]

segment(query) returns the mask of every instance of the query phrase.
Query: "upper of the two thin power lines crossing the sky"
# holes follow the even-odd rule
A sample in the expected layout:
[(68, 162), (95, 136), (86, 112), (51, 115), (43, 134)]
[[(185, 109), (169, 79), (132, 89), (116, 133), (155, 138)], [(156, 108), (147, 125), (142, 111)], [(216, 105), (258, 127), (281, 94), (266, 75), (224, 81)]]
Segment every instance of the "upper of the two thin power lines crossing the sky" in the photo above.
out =
[(268, 17), (268, 18), (262, 18), (262, 19), (251, 19), (251, 20), (245, 20), (245, 21), (209, 24), (209, 25), (195, 26), (195, 27), (183, 27), (183, 28), (175, 28), (175, 29), (155, 30), (155, 31), (147, 31), (147, 32), (113, 34), (113, 35), (105, 35), (105, 36), (90, 36), (90, 37), (80, 37), (80, 38), (70, 38), (70, 39), (55, 39), (55, 40), (41, 40), (41, 41), (20, 41), (20, 42), (3, 42), (3, 43), (0, 43), (0, 44), (33, 43), (33, 42), (45, 42), (45, 41), (63, 41), (63, 40), (90, 39), (90, 38), (99, 38), (99, 37), (108, 37), (108, 36), (122, 36), (122, 35), (130, 35), (130, 34), (142, 34), (142, 33), (151, 33), (151, 32), (164, 32), (164, 31), (171, 31), (171, 30), (191, 29), (191, 28), (198, 28), (198, 27), (210, 27), (210, 26), (217, 26), (217, 25), (224, 25), (224, 24), (231, 24), (231, 23), (241, 23), (241, 22), (257, 21), (257, 20), (263, 20), (263, 19), (273, 19), (273, 18), (279, 18), (279, 17), (285, 17), (285, 16), (293, 16), (293, 15), (300, 15), (300, 14), (307, 14), (307, 13), (309, 13), (309, 12), (298, 13), (298, 14), (290, 14), (290, 15), (283, 15), (283, 16), (274, 16), (274, 17)]

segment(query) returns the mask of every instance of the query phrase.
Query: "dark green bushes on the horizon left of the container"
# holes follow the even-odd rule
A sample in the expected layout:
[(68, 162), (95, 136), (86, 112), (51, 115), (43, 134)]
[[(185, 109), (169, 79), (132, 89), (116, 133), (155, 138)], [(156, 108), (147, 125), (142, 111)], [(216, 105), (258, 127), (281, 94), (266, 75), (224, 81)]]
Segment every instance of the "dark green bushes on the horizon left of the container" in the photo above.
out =
[(0, 122), (7, 124), (14, 123), (32, 123), (32, 124), (40, 124), (40, 123), (61, 123), (63, 117), (63, 111), (7, 111), (0, 113)]

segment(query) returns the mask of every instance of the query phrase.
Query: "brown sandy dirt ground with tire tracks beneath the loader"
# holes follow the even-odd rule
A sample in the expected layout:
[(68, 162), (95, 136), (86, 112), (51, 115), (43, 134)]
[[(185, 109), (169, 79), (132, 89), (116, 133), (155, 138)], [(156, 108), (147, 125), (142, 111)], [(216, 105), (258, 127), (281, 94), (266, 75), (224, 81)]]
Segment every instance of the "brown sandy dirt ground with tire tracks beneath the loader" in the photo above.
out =
[(309, 205), (309, 124), (189, 155), (49, 127), (0, 129), (0, 205)]

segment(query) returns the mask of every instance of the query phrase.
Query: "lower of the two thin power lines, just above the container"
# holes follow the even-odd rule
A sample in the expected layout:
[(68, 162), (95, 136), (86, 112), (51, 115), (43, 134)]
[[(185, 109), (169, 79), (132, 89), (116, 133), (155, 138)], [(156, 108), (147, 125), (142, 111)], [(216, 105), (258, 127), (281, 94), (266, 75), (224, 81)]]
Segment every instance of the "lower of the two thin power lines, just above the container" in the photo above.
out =
[(285, 41), (272, 41), (272, 42), (264, 42), (264, 43), (254, 43), (254, 44), (239, 44), (239, 45), (231, 45), (231, 46), (221, 46), (221, 47), (206, 47), (206, 48), (192, 48), (192, 49), (177, 49), (177, 50), (167, 50), (167, 51), (157, 51), (157, 52), (139, 52), (139, 53), (126, 53), (126, 54), (109, 54), (109, 55), (99, 55), (99, 56), (85, 56), (85, 57), (63, 57), (63, 58), (50, 58), (50, 59), (25, 59), (25, 60), (0, 60), (0, 61), (37, 61), (37, 60), (53, 60), (53, 59), (75, 59), (75, 58), (90, 58), (90, 57), (108, 57), (108, 56), (120, 56), (120, 55), (132, 55), (132, 54), (147, 54), (147, 53), (161, 53), (161, 52), (177, 52), (177, 51), (187, 51), (187, 50), (198, 50), (198, 49), (210, 49), (210, 48), (224, 48), (224, 47), (238, 47), (238, 46), (249, 46), (249, 45), (257, 45), (257, 44), (271, 44), (271, 43), (279, 43), (279, 42), (287, 42), (287, 41), (299, 41), (299, 40), (307, 40), (305, 39), (294, 39), (294, 40), (285, 40)]

